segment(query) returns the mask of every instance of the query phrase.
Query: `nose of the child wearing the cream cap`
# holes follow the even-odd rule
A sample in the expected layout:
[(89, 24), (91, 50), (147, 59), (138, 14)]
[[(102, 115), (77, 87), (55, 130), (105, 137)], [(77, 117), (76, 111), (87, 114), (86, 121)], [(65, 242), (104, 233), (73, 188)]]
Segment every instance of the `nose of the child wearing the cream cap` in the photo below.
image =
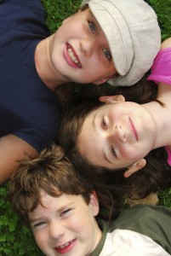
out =
[(94, 53), (94, 49), (95, 49), (95, 39), (94, 38), (88, 38), (88, 37), (82, 38), (80, 40), (79, 44), (80, 44), (81, 51), (87, 57), (91, 56)]

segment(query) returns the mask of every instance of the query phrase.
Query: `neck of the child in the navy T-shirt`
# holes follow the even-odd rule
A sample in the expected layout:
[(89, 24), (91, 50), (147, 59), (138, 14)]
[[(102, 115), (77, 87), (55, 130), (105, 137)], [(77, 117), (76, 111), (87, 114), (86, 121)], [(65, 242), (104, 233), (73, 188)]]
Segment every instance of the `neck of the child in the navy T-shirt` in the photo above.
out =
[(50, 56), (53, 38), (54, 35), (43, 39), (37, 44), (35, 50), (35, 65), (40, 79), (42, 79), (43, 83), (46, 84), (50, 90), (54, 91), (60, 84), (65, 84), (68, 81), (53, 67)]

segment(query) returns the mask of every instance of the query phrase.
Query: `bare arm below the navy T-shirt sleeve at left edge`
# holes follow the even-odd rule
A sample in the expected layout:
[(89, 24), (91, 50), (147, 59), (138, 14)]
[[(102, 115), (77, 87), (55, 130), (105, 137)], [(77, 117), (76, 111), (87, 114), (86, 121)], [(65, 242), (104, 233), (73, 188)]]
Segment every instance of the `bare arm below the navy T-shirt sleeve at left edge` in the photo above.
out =
[(37, 150), (14, 135), (0, 138), (0, 184), (6, 181), (19, 166), (25, 154), (36, 157)]

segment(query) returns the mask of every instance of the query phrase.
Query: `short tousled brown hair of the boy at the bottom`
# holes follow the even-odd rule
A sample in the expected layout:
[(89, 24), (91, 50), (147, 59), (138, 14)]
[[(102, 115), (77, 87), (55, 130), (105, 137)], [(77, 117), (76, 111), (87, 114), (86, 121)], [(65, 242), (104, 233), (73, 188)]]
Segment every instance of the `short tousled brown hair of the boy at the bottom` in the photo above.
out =
[[(51, 148), (44, 149), (37, 159), (26, 157), (9, 182), (9, 201), (27, 226), (30, 224), (28, 213), (41, 203), (41, 189), (54, 197), (63, 193), (82, 195), (88, 204), (90, 194), (96, 188), (93, 182), (80, 177), (62, 148), (52, 145)], [(113, 202), (111, 193), (105, 189), (106, 187), (104, 190), (99, 188), (97, 191), (100, 205), (108, 208), (109, 214), (116, 215), (117, 204)]]

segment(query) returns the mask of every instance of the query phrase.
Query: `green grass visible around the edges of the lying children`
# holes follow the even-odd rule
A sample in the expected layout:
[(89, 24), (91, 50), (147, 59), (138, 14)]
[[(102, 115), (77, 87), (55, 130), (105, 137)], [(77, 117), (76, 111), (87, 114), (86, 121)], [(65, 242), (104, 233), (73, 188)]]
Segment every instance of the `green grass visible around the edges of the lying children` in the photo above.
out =
[[(162, 39), (171, 36), (171, 0), (149, 0), (157, 12), (162, 28)], [(81, 1), (77, 0), (42, 0), (47, 10), (47, 23), (51, 33), (55, 32), (62, 20), (73, 14)], [(0, 188), (0, 256), (41, 256), (31, 232), (21, 224), (12, 211), (6, 197), (7, 183)], [(160, 204), (171, 207), (171, 189), (159, 191)]]

